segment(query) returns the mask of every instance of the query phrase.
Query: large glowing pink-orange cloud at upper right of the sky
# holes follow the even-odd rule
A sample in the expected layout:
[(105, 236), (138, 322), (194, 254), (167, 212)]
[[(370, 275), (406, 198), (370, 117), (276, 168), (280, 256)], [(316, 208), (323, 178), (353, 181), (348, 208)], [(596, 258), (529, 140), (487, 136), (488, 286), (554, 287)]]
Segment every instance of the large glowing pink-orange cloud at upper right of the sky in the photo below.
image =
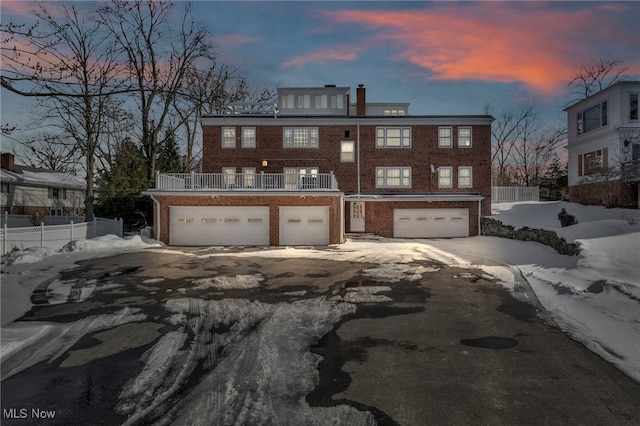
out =
[[(549, 11), (539, 4), (439, 3), (425, 10), (325, 12), (332, 20), (361, 24), (397, 49), (394, 59), (428, 70), (431, 80), (524, 83), (552, 95), (602, 41), (633, 45), (635, 36), (602, 25), (619, 7)], [(613, 28), (612, 28), (613, 27)], [(329, 49), (328, 49), (329, 50)]]

